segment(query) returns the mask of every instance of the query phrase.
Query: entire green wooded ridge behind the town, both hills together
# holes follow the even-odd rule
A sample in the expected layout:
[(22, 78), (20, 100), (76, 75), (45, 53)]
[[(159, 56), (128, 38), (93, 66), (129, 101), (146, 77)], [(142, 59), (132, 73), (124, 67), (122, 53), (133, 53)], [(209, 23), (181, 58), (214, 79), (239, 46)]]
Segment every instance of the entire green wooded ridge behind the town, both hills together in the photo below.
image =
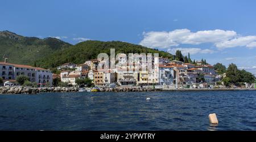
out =
[[(56, 68), (60, 64), (73, 62), (84, 63), (97, 58), (99, 53), (108, 53), (110, 49), (118, 53), (159, 53), (159, 57), (172, 58), (166, 51), (151, 49), (142, 45), (122, 41), (88, 40), (76, 45), (57, 38), (24, 37), (10, 31), (0, 31), (0, 50), (8, 59), (7, 62), (28, 64), (43, 68)], [(0, 58), (3, 61), (3, 58)]]

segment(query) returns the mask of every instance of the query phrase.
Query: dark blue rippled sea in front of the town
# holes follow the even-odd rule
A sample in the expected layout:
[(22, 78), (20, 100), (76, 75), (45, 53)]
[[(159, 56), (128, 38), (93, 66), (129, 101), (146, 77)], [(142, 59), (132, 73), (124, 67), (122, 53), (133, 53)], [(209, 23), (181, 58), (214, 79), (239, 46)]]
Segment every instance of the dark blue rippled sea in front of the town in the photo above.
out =
[(0, 95), (0, 130), (256, 130), (256, 91)]

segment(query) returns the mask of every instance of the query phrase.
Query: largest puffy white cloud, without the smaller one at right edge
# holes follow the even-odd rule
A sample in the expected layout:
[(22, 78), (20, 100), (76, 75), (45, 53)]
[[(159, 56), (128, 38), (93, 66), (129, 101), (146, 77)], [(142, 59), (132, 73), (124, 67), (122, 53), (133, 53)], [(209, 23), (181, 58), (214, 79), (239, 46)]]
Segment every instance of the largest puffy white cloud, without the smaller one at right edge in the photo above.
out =
[(229, 40), (237, 35), (234, 31), (191, 32), (189, 29), (175, 29), (170, 32), (143, 32), (143, 40), (139, 43), (150, 48), (170, 48), (180, 44), (198, 45), (203, 43), (216, 43)]

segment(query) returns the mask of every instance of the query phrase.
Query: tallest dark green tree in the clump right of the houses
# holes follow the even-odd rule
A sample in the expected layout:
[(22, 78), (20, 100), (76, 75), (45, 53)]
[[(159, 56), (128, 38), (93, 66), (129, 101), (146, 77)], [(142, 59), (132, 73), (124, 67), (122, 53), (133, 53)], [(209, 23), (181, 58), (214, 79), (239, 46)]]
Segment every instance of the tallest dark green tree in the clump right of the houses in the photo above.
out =
[(236, 64), (229, 64), (226, 70), (226, 77), (230, 79), (230, 83), (237, 84), (240, 81), (240, 71), (237, 69)]

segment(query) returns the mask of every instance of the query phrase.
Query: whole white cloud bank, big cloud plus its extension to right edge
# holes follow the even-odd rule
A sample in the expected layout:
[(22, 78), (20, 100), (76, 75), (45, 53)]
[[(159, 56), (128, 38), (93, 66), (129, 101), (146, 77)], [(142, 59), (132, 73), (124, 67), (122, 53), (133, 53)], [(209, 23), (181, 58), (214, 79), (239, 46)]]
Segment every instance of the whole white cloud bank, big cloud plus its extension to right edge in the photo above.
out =
[(180, 44), (199, 45), (210, 43), (218, 49), (245, 46), (256, 48), (256, 36), (238, 36), (234, 31), (221, 29), (191, 32), (189, 29), (175, 29), (174, 31), (143, 32), (140, 45), (150, 48), (170, 48)]

